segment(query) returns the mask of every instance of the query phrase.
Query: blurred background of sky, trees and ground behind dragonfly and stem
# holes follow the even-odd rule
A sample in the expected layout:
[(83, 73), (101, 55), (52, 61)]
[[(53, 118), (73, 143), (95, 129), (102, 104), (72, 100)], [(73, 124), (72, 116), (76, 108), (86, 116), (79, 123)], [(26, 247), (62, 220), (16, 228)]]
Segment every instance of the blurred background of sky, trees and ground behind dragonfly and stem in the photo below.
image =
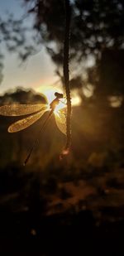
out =
[[(7, 128), (18, 118), (0, 116), (0, 232), (7, 243), (12, 235), (44, 237), (44, 244), (50, 244), (62, 234), (62, 227), (73, 229), (67, 234), (74, 241), (79, 241), (77, 230), (83, 229), (86, 241), (100, 238), (107, 244), (111, 237), (121, 243), (124, 2), (71, 0), (70, 8), (69, 157), (60, 162), (65, 137), (53, 117), (23, 167), (45, 116), (14, 134)], [(63, 0), (0, 0), (0, 105), (46, 103), (55, 91), (64, 92), (63, 42)], [(119, 244), (118, 254), (121, 249)], [(43, 245), (41, 250), (50, 254)]]

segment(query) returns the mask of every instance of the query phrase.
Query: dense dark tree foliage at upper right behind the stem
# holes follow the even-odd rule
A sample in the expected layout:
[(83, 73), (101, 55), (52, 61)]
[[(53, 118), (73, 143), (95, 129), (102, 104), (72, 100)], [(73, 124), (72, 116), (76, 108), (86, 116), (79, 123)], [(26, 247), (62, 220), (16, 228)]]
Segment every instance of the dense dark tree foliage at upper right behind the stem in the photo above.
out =
[[(123, 46), (124, 3), (122, 0), (109, 2), (74, 0), (71, 2), (71, 8), (72, 58), (79, 61), (89, 54), (98, 56), (98, 53), (105, 47), (120, 48)], [(57, 65), (61, 64), (64, 40), (63, 0), (59, 3), (57, 0), (34, 1), (34, 7), (29, 12), (35, 15), (34, 27), (41, 32), (43, 41), (46, 44), (55, 42), (53, 47), (48, 48), (48, 51)]]

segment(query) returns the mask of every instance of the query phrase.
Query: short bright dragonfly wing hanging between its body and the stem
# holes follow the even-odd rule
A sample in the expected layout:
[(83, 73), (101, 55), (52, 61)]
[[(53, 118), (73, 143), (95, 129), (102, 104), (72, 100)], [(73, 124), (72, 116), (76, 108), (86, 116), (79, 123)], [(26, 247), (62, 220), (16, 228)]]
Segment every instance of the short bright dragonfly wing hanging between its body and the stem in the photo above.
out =
[(55, 121), (61, 133), (66, 134), (66, 109), (60, 109), (55, 113)]

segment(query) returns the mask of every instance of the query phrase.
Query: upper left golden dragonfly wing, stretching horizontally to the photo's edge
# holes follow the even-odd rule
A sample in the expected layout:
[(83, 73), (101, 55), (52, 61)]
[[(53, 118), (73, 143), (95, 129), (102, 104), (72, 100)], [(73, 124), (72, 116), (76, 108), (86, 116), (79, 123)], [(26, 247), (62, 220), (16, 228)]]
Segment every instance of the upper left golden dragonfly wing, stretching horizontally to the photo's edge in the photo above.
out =
[(0, 114), (4, 116), (21, 116), (32, 114), (41, 109), (45, 109), (45, 104), (12, 104), (0, 107)]

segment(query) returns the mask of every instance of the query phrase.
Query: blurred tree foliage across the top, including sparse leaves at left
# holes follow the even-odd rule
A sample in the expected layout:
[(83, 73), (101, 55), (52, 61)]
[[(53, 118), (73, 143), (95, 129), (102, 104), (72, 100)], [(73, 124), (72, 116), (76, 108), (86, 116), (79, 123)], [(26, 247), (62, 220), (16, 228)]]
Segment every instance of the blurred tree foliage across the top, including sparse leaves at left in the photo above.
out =
[[(27, 27), (25, 19), (17, 21), (10, 15), (5, 21), (1, 17), (1, 41), (5, 42), (8, 51), (18, 51), (21, 60), (26, 60), (36, 49), (39, 50), (41, 44), (44, 44), (62, 75), (64, 1), (21, 1), (25, 3), (26, 15), (29, 17), (32, 15), (32, 27), (30, 29)], [(70, 60), (77, 75), (80, 66), (79, 75), (82, 80), (83, 63), (86, 58), (94, 56), (95, 59), (99, 59), (105, 48), (116, 50), (123, 48), (124, 2), (73, 0), (70, 4), (72, 10)], [(29, 30), (32, 31), (30, 41), (27, 36)]]

